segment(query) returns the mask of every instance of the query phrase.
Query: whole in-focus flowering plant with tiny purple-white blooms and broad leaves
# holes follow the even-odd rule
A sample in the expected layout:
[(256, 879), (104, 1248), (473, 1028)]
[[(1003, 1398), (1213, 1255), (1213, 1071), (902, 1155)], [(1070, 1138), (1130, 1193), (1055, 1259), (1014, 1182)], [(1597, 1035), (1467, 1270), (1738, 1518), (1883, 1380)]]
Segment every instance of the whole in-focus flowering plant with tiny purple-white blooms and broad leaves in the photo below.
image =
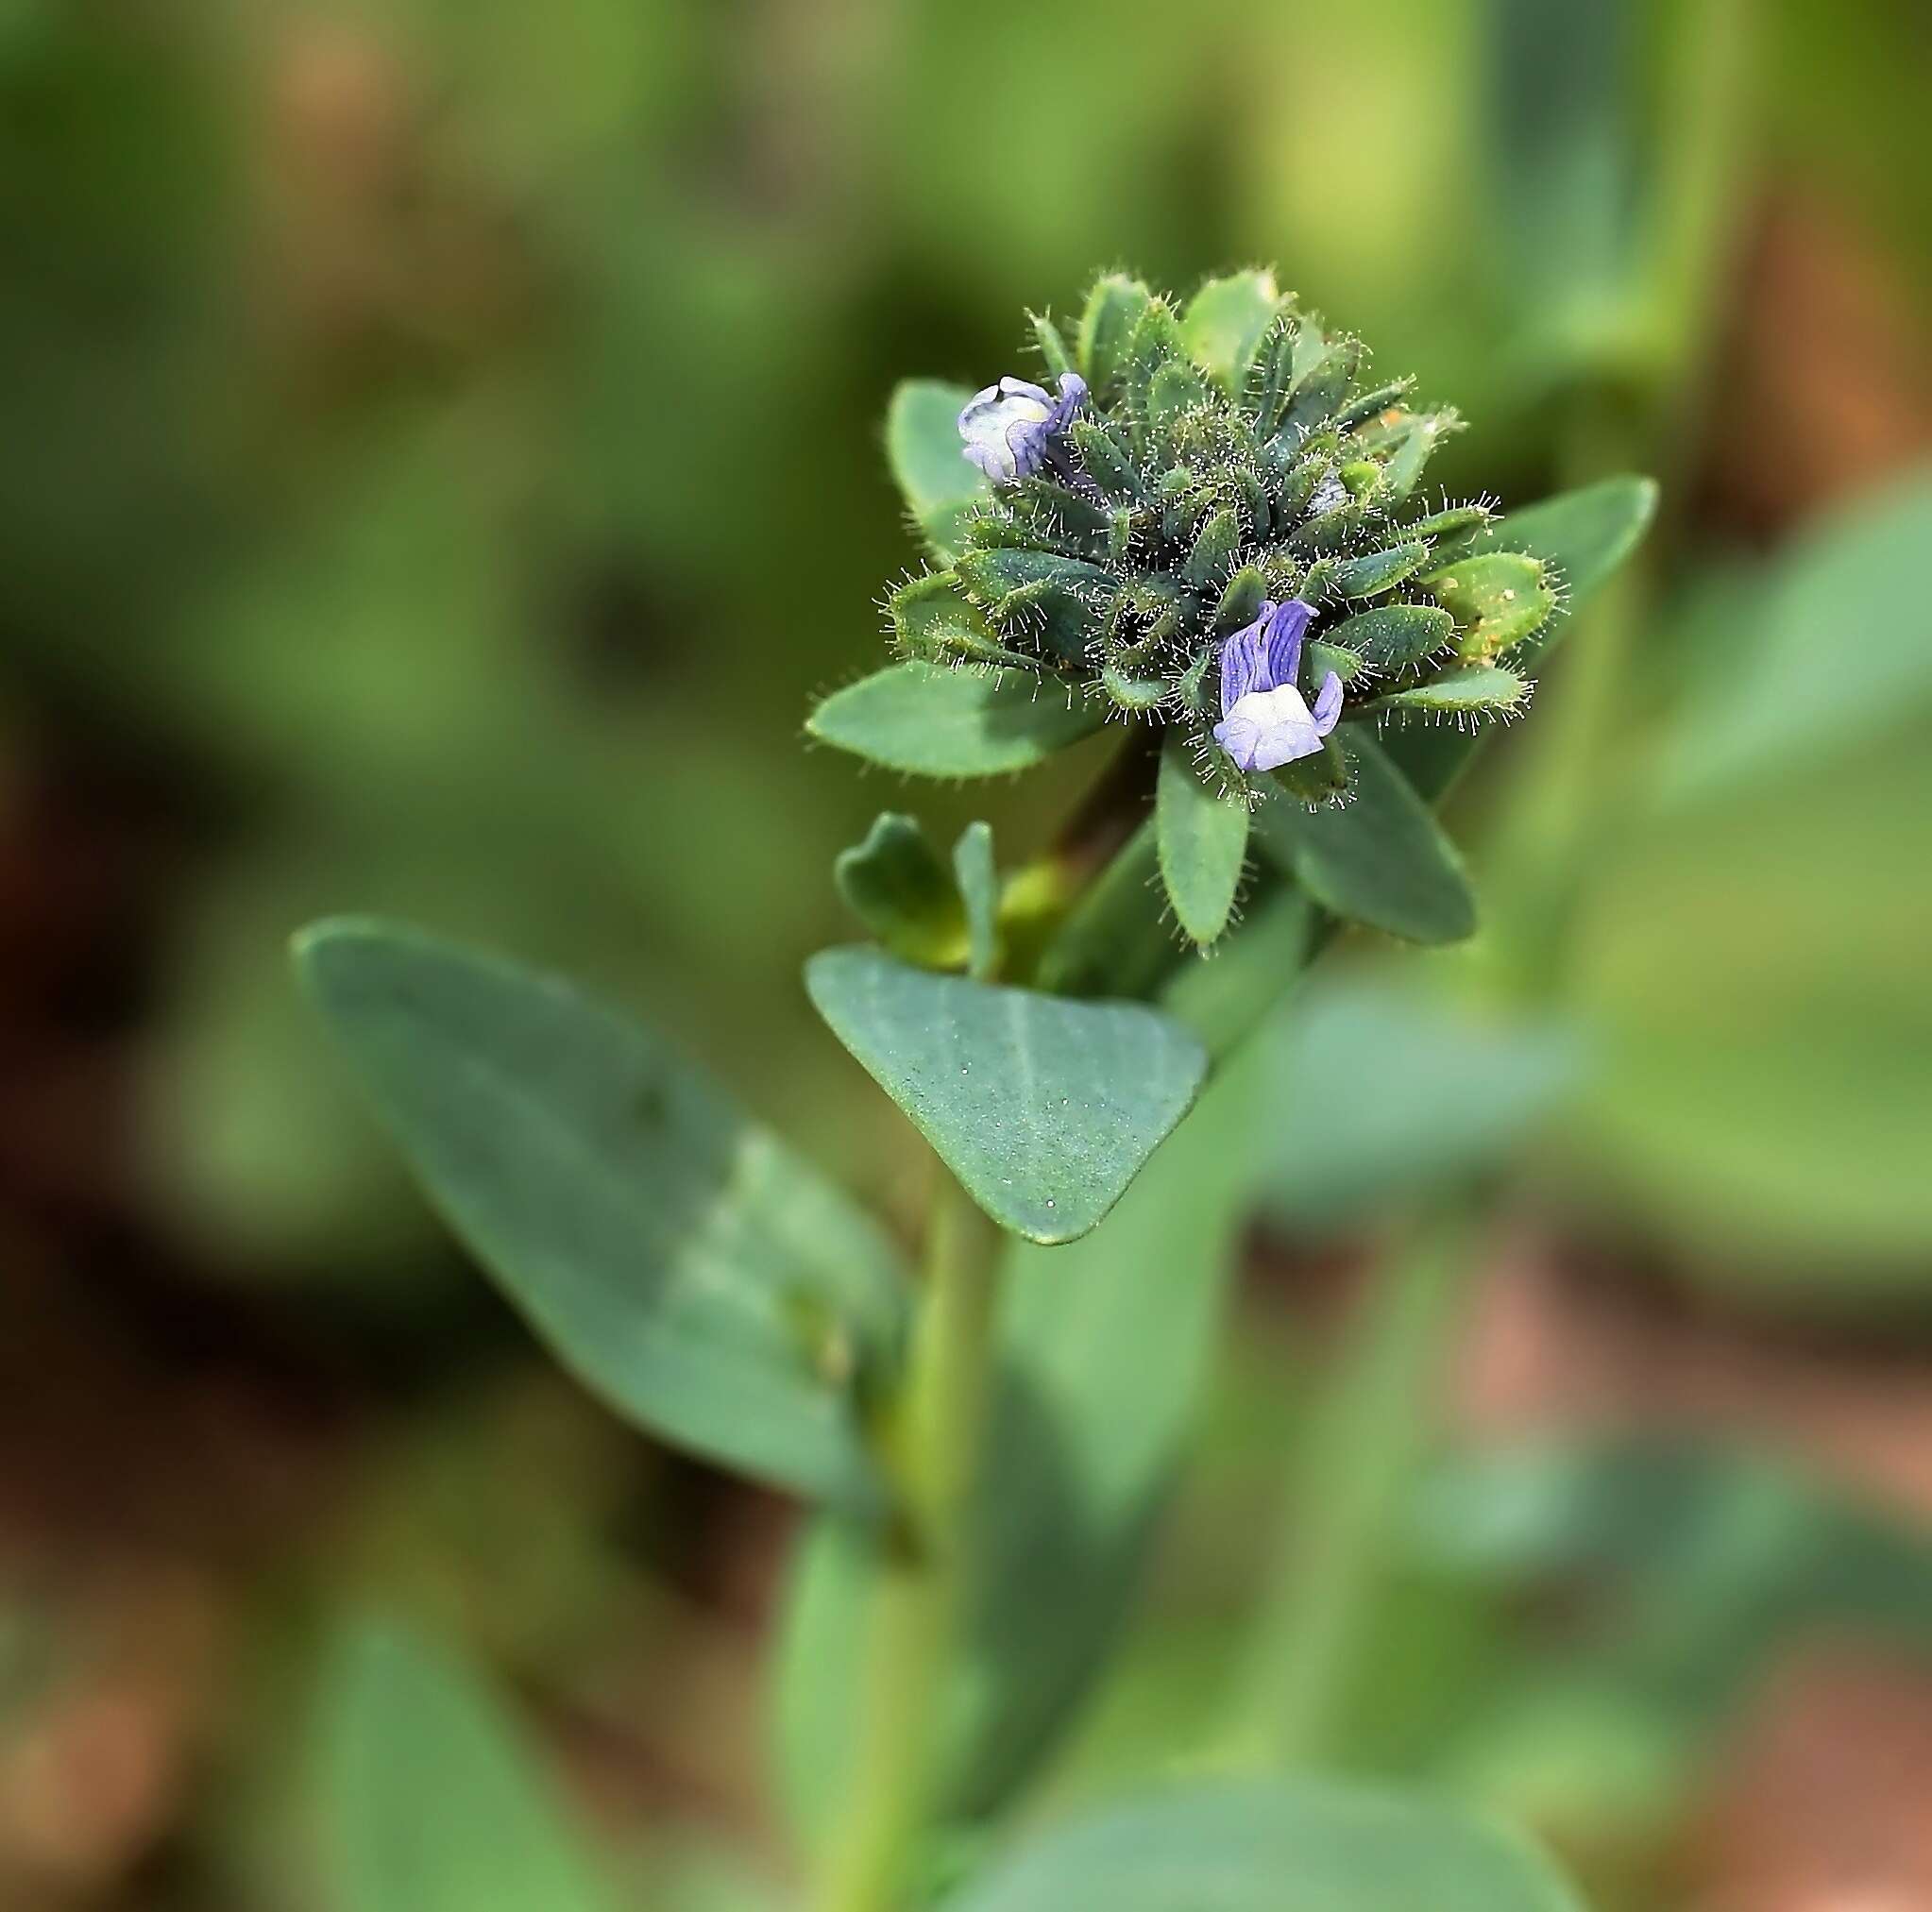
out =
[(1231, 1906), (1553, 1912), (1565, 1889), (1486, 1827), (1271, 1777), (1265, 1674), (1200, 1761), (1242, 1777), (981, 1858), (1105, 1663), (1211, 1358), (1242, 1037), (1341, 923), (1472, 931), (1434, 805), (1652, 489), (1507, 518), (1426, 498), (1455, 415), (1378, 384), (1264, 272), (1184, 307), (1103, 276), (1070, 336), (1034, 338), (1051, 386), (895, 396), (929, 562), (887, 601), (898, 659), (808, 726), (937, 778), (1124, 732), (1005, 873), (983, 823), (941, 856), (898, 813), (838, 859), (871, 941), (811, 958), (806, 987), (943, 1165), (920, 1279), (564, 981), (354, 919), (307, 931), (299, 970), (558, 1358), (639, 1427), (815, 1504), (777, 1713), (819, 1906), (883, 1912), (964, 1870), (970, 1912), (1128, 1891), (1182, 1912), (1211, 1866)]

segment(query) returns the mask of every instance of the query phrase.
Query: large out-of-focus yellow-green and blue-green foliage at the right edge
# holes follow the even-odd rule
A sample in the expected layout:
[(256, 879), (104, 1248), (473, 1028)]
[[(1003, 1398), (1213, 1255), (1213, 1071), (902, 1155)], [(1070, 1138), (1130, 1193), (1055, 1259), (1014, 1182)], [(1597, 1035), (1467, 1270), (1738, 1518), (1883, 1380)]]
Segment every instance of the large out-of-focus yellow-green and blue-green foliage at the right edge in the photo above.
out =
[(1861, 500), (1677, 612), (1662, 788), (1594, 879), (1594, 1172), (1824, 1306), (1932, 1265), (1932, 492)]

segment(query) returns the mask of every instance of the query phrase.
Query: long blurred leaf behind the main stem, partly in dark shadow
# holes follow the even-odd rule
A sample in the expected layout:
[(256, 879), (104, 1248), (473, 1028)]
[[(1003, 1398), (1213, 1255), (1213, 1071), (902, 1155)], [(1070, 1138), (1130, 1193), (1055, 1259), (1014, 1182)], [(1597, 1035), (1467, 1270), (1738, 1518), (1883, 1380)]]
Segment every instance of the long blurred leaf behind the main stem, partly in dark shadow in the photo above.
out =
[[(1236, 939), (1213, 966), (1188, 968), (1211, 973), (1240, 948)], [(1219, 1072), (1092, 1234), (1009, 1248), (1001, 1379), (968, 1549), (976, 1574), (954, 1690), (939, 1707), (952, 1815), (1012, 1798), (1109, 1663), (1213, 1373), (1260, 1139), (1262, 1066), (1254, 1045)], [(786, 1609), (779, 1759), (808, 1839), (848, 1786), (879, 1537), (873, 1526), (819, 1520)]]

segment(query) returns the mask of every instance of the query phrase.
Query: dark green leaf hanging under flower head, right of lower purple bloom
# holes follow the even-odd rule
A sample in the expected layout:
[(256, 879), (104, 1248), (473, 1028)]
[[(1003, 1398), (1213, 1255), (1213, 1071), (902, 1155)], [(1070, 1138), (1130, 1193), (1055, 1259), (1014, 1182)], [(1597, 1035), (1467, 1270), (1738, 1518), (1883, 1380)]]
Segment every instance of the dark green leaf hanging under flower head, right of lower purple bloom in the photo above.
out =
[(1455, 844), (1379, 745), (1352, 734), (1347, 749), (1352, 800), (1308, 811), (1271, 798), (1256, 817), (1262, 842), (1335, 915), (1410, 942), (1459, 942), (1476, 929), (1476, 900)]

